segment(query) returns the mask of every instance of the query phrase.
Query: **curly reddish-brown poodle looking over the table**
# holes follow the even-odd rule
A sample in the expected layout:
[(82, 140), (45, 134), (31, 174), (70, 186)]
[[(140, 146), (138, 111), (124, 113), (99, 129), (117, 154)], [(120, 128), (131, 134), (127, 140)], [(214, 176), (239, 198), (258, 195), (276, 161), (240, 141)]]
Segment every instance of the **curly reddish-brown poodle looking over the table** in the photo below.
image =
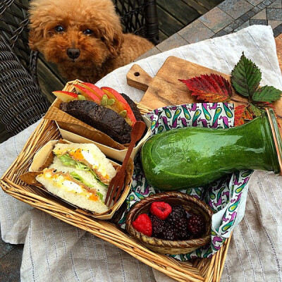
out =
[(56, 63), (67, 80), (97, 82), (153, 47), (123, 34), (111, 0), (33, 0), (30, 48)]

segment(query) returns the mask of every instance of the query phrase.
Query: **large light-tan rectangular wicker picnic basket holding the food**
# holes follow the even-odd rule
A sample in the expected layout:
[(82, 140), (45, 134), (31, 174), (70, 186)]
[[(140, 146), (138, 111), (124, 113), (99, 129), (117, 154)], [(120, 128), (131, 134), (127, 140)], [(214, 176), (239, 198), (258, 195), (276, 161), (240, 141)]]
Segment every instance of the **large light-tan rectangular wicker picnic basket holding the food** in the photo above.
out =
[[(72, 84), (73, 82), (69, 82), (64, 90), (72, 91)], [(137, 105), (142, 114), (149, 111), (145, 106)], [(130, 237), (128, 233), (122, 231), (114, 222), (94, 219), (92, 216), (77, 212), (35, 186), (23, 183), (19, 176), (28, 171), (36, 152), (49, 140), (57, 140), (60, 137), (61, 134), (56, 123), (43, 119), (27, 140), (17, 159), (2, 176), (0, 185), (4, 192), (26, 204), (30, 204), (32, 207), (55, 216), (57, 219), (97, 235), (97, 237), (120, 247), (141, 262), (152, 266), (177, 281), (211, 282), (220, 280), (231, 237), (226, 240), (212, 258), (180, 262), (147, 249), (147, 247)]]

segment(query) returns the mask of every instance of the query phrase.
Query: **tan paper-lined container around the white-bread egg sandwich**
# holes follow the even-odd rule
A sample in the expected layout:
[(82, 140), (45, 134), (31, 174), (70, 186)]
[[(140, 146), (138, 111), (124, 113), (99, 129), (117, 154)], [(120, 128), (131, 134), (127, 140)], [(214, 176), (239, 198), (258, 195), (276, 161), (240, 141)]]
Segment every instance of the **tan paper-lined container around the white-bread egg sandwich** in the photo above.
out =
[[(29, 172), (22, 174), (20, 176), (20, 179), (29, 185), (35, 185), (39, 189), (44, 190), (44, 192), (47, 192), (49, 195), (52, 195), (56, 200), (59, 199), (62, 202), (66, 202), (65, 200), (57, 197), (56, 195), (51, 194), (51, 192), (49, 192), (46, 188), (44, 188), (44, 186), (41, 183), (38, 183), (37, 180), (35, 179), (35, 177), (39, 173), (42, 173), (42, 170), (44, 168), (49, 167), (51, 165), (54, 159), (54, 154), (52, 153), (52, 149), (58, 142), (70, 143), (68, 140), (51, 140), (47, 142), (47, 144), (44, 145), (41, 149), (39, 149), (39, 151), (35, 154), (35, 157), (33, 158), (32, 164), (29, 168)], [(120, 167), (120, 165), (116, 164), (116, 162), (114, 161), (111, 161), (111, 164), (113, 164), (114, 168), (116, 169)], [(66, 203), (74, 207), (76, 212), (80, 212), (82, 214), (92, 216), (95, 219), (111, 219), (114, 216), (114, 213), (121, 207), (121, 204), (123, 204), (125, 198), (128, 195), (128, 192), (130, 190), (130, 185), (132, 182), (132, 175), (133, 175), (133, 160), (130, 159), (128, 161), (128, 166), (126, 168), (125, 187), (123, 189), (123, 193), (121, 197), (119, 198), (118, 202), (114, 204), (114, 206), (110, 207), (106, 212), (103, 212), (102, 214), (97, 214), (94, 212), (90, 212), (86, 209), (81, 209), (80, 207), (77, 207), (69, 202)]]

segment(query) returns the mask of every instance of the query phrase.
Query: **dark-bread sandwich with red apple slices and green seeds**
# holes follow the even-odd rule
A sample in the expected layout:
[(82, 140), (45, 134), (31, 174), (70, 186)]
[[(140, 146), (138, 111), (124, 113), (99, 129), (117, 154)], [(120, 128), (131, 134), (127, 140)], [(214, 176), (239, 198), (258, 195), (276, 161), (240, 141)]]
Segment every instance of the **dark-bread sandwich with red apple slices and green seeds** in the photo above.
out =
[(133, 100), (110, 87), (97, 87), (87, 82), (74, 85), (74, 92), (55, 91), (61, 99), (59, 109), (111, 137), (128, 144), (136, 121), (143, 121)]

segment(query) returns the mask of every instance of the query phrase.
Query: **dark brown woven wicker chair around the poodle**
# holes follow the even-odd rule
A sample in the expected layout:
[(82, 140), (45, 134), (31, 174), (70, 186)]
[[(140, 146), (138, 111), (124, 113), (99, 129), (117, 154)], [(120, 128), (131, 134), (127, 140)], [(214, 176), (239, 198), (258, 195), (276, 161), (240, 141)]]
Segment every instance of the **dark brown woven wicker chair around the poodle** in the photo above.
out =
[[(113, 1), (125, 32), (159, 42), (156, 0)], [(0, 1), (0, 121), (13, 135), (41, 118), (50, 104), (37, 79), (39, 54), (28, 47), (28, 4)]]

